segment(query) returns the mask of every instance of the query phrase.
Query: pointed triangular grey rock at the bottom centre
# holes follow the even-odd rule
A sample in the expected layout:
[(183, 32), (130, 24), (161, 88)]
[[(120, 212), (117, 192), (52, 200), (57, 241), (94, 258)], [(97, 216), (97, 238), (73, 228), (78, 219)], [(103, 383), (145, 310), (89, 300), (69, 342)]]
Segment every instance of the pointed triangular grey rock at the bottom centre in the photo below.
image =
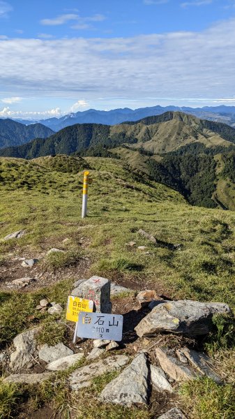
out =
[(139, 353), (131, 364), (100, 393), (101, 402), (132, 406), (148, 403), (149, 368), (145, 353)]

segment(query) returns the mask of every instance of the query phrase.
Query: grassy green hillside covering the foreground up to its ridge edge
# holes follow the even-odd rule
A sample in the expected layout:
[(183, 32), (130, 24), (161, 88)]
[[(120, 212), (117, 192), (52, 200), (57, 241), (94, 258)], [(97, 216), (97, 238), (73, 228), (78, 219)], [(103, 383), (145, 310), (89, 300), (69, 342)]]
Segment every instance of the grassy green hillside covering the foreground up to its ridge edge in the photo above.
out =
[[(1, 349), (17, 333), (38, 325), (43, 326), (41, 342), (55, 344), (56, 339), (63, 339), (69, 345), (73, 333), (65, 321), (68, 293), (75, 280), (92, 274), (128, 286), (133, 292), (156, 289), (169, 298), (221, 301), (235, 307), (234, 212), (192, 207), (179, 192), (153, 182), (116, 159), (55, 156), (36, 161), (1, 158), (0, 163), (0, 237), (16, 230), (26, 231), (20, 240), (0, 240)], [(82, 220), (85, 166), (93, 182), (89, 185), (89, 214)], [(156, 237), (156, 245), (139, 235), (139, 228)], [(128, 244), (130, 241), (136, 243), (134, 247)], [(139, 246), (145, 248), (137, 249)], [(46, 256), (52, 247), (64, 253)], [(33, 271), (37, 281), (23, 291), (11, 291), (7, 288), (6, 270), (10, 270), (12, 278), (18, 275), (18, 258), (22, 256), (40, 260)], [(40, 314), (36, 305), (41, 298), (61, 304), (63, 313), (57, 317), (48, 317), (47, 312)], [(132, 293), (122, 295), (113, 304), (132, 312), (133, 298)], [(233, 417), (234, 348), (230, 337), (221, 332), (223, 328), (218, 335), (215, 333), (214, 340), (209, 337), (201, 345), (213, 355), (226, 384), (194, 381), (190, 389), (184, 385), (174, 395), (174, 404), (188, 415), (197, 399), (193, 419), (200, 419), (202, 411), (209, 419)], [(163, 335), (162, 339), (176, 346), (185, 344), (174, 335)], [(122, 351), (135, 353), (133, 344)], [(6, 385), (0, 379), (1, 417), (36, 417), (30, 415), (49, 406), (54, 415), (63, 412), (68, 416), (73, 405), (79, 406), (79, 416), (75, 416), (79, 419), (159, 416), (161, 406), (154, 400), (149, 409), (97, 402), (96, 395), (114, 378), (112, 374), (94, 381), (86, 393), (71, 397), (66, 380), (71, 371), (58, 373), (45, 385), (33, 387)], [(43, 414), (43, 410), (39, 412)]]

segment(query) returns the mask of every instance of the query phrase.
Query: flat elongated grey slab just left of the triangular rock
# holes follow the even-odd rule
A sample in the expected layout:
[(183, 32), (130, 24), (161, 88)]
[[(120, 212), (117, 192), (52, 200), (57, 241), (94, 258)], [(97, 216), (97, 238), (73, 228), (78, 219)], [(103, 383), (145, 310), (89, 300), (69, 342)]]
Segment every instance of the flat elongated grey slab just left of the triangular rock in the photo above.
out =
[(94, 377), (119, 369), (126, 365), (128, 360), (129, 358), (126, 355), (116, 355), (105, 358), (105, 360), (100, 360), (93, 362), (90, 365), (77, 368), (68, 377), (71, 390), (77, 391), (80, 388), (89, 387)]

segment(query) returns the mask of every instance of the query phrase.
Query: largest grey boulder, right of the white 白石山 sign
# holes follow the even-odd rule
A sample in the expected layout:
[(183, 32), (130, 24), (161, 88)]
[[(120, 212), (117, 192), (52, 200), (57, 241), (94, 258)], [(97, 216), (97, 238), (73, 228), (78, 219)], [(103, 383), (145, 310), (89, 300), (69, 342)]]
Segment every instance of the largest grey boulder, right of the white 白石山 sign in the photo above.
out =
[(180, 300), (155, 307), (135, 328), (139, 337), (170, 331), (195, 337), (206, 335), (212, 327), (213, 314), (231, 313), (227, 304)]

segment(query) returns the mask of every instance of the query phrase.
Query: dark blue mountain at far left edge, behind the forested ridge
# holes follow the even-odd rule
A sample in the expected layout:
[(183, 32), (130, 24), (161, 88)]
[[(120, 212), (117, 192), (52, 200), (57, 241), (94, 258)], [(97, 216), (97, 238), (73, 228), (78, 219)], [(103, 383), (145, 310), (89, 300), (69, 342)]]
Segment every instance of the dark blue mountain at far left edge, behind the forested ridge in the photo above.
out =
[(22, 145), (33, 138), (47, 138), (53, 133), (43, 124), (26, 126), (12, 119), (0, 119), (0, 148)]

